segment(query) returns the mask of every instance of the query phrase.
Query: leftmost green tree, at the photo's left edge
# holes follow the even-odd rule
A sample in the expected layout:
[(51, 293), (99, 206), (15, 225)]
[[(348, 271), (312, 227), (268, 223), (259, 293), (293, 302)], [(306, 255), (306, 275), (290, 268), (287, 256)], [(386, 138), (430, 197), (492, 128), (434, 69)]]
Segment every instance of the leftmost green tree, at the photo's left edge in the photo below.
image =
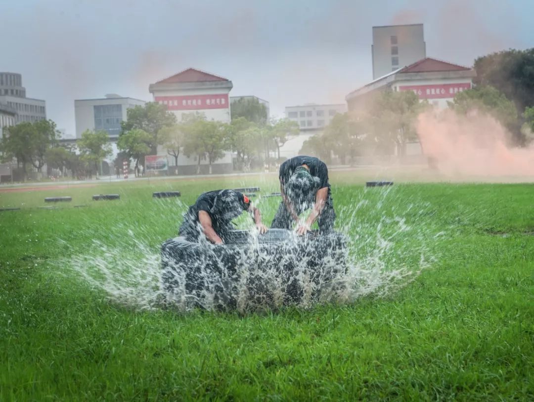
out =
[(17, 167), (22, 166), (23, 180), (26, 181), (27, 165), (32, 162), (34, 152), (33, 141), (36, 138), (36, 129), (32, 123), (23, 122), (4, 128), (2, 134), (2, 160), (8, 162), (17, 159)]

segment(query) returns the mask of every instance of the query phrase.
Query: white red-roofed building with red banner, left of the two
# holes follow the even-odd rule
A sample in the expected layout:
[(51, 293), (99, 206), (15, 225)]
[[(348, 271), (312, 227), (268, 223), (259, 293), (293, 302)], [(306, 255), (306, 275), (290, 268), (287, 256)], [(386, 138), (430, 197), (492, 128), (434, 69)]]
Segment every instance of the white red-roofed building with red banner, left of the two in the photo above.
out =
[[(205, 71), (189, 68), (171, 77), (150, 84), (148, 91), (155, 102), (164, 104), (176, 115), (178, 122), (183, 116), (199, 112), (208, 120), (230, 123), (230, 98), (232, 82)], [(158, 154), (165, 155), (166, 150), (158, 149)], [(172, 157), (167, 158), (169, 166), (175, 166)], [(188, 158), (180, 152), (177, 174), (194, 174), (197, 171), (197, 159)], [(224, 157), (212, 164), (213, 173), (229, 173), (233, 170), (232, 154), (225, 152)], [(201, 173), (208, 173), (207, 160), (201, 161)]]

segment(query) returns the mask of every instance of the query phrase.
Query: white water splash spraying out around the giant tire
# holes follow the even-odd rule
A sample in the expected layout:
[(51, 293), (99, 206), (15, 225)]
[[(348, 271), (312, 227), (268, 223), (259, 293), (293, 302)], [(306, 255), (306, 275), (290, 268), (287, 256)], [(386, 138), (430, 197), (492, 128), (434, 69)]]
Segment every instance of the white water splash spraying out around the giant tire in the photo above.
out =
[[(321, 262), (319, 271), (309, 269), (313, 264), (307, 258), (297, 261), (292, 250), (297, 245), (302, 247), (302, 238), (296, 236), (285, 246), (285, 255), (279, 258), (281, 265), (273, 266), (273, 255), (266, 253), (253, 236), (253, 242), (241, 247), (232, 257), (237, 274), (229, 274), (228, 267), (217, 260), (217, 255), (210, 252), (208, 246), (205, 260), (199, 262), (199, 266), (204, 267), (201, 269), (206, 277), (206, 291), (199, 295), (194, 290), (187, 290), (185, 278), (178, 278), (174, 290), (169, 293), (162, 286), (160, 245), (164, 239), (148, 227), (132, 228), (125, 223), (113, 223), (107, 228), (108, 237), (113, 242), (92, 240), (86, 250), (72, 250), (59, 263), (70, 268), (96, 291), (104, 292), (113, 302), (128, 307), (151, 310), (172, 305), (187, 311), (195, 305), (208, 310), (222, 305), (245, 312), (285, 304), (309, 308), (316, 303), (352, 303), (365, 295), (388, 295), (410, 283), (434, 261), (435, 252), (429, 246), (443, 232), (434, 230), (427, 222), (418, 224), (428, 213), (428, 204), (400, 202), (403, 196), (396, 195), (391, 189), (382, 189), (379, 195), (376, 190), (359, 192), (350, 198), (349, 205), (336, 208), (337, 230), (347, 238), (347, 247), (342, 251), (346, 261), (342, 272), (339, 254), (328, 255)], [(277, 199), (260, 198), (257, 203), (264, 216), (270, 216), (278, 202)], [(186, 211), (185, 205), (179, 204), (179, 207), (182, 212)], [(135, 213), (143, 214), (141, 207)], [(340, 224), (340, 221), (344, 223)], [(103, 230), (91, 222), (85, 226), (89, 231)], [(310, 255), (315, 258), (312, 252)], [(288, 277), (284, 266), (290, 265), (294, 269)], [(221, 292), (221, 288), (230, 286), (221, 277), (232, 275), (237, 275), (239, 280), (231, 284), (231, 289)], [(250, 280), (253, 278), (261, 279), (261, 286), (252, 286)], [(288, 300), (288, 286), (298, 286), (301, 296)], [(221, 298), (221, 295), (229, 293), (232, 300), (222, 300), (224, 296)]]

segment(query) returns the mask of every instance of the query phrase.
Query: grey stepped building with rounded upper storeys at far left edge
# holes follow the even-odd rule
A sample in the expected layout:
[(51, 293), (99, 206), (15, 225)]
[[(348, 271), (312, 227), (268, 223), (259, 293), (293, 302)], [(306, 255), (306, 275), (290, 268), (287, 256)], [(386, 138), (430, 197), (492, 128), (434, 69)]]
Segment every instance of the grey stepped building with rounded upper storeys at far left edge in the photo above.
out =
[(46, 118), (45, 101), (26, 98), (26, 88), (22, 86), (21, 74), (0, 73), (0, 103), (17, 112), (15, 124), (33, 123)]

